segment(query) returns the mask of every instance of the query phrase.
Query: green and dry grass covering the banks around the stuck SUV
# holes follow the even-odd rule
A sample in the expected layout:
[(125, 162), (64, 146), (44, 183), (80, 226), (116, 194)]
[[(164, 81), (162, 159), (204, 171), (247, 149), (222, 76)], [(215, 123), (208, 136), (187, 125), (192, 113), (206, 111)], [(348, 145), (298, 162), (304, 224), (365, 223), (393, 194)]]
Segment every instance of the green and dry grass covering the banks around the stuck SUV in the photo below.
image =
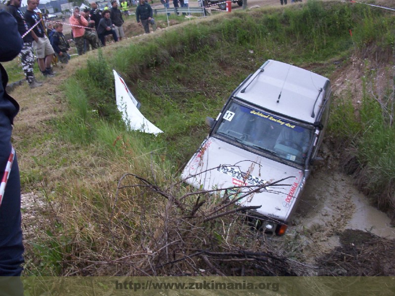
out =
[[(43, 192), (50, 209), (42, 213), (48, 221), (27, 244), (26, 272), (191, 274), (200, 268), (209, 274), (295, 274), (286, 259), (270, 253), (264, 239), (257, 239), (235, 215), (217, 217), (232, 207), (219, 209), (221, 201), (213, 196), (199, 194), (196, 202), (196, 195), (188, 195), (190, 188), (177, 183), (179, 169), (208, 132), (204, 117), (215, 117), (235, 86), (265, 60), (330, 77), (336, 70), (332, 61), (346, 63), (369, 44), (380, 44), (377, 52), (391, 51), (391, 22), (385, 12), (367, 6), (310, 1), (292, 9), (209, 18), (106, 48), (104, 57), (99, 53), (89, 59), (88, 67), (78, 69), (60, 88), (68, 111), (41, 122), (45, 133), (21, 128), (15, 141), (23, 188)], [(112, 68), (123, 75), (142, 103), (142, 113), (163, 134), (125, 130), (114, 105)], [(370, 172), (371, 163), (381, 161), (377, 157), (384, 154), (384, 164), (394, 159), (388, 149), (394, 146), (394, 129), (367, 92), (363, 106), (368, 108), (360, 113), (349, 104), (352, 94), (342, 99), (335, 98), (331, 134), (355, 147), (360, 174), (376, 173), (369, 175), (371, 180), (383, 180), (380, 187), (394, 194), (388, 178), (395, 175), (390, 171), (394, 166), (387, 178), (379, 175), (384, 169)], [(382, 146), (366, 146), (367, 141)], [(117, 191), (125, 173), (133, 175), (125, 176)], [(218, 257), (239, 250), (283, 264), (268, 268), (261, 260), (257, 269), (257, 261)]]

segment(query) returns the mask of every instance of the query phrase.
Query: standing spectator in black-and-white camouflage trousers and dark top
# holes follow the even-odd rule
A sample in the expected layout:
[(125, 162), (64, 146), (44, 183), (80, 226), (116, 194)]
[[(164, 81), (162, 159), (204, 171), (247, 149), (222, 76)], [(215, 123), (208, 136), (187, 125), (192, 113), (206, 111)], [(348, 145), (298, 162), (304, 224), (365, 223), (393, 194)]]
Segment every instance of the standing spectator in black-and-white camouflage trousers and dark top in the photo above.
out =
[[(24, 35), (29, 30), (29, 24), (22, 11), (19, 10), (19, 7), (21, 7), (21, 0), (11, 0), (7, 4), (9, 13), (16, 19), (20, 36)], [(21, 57), (22, 70), (25, 73), (26, 81), (29, 83), (29, 86), (31, 88), (41, 86), (42, 83), (36, 80), (33, 72), (35, 58), (32, 33), (23, 37), (23, 48), (19, 56)]]

